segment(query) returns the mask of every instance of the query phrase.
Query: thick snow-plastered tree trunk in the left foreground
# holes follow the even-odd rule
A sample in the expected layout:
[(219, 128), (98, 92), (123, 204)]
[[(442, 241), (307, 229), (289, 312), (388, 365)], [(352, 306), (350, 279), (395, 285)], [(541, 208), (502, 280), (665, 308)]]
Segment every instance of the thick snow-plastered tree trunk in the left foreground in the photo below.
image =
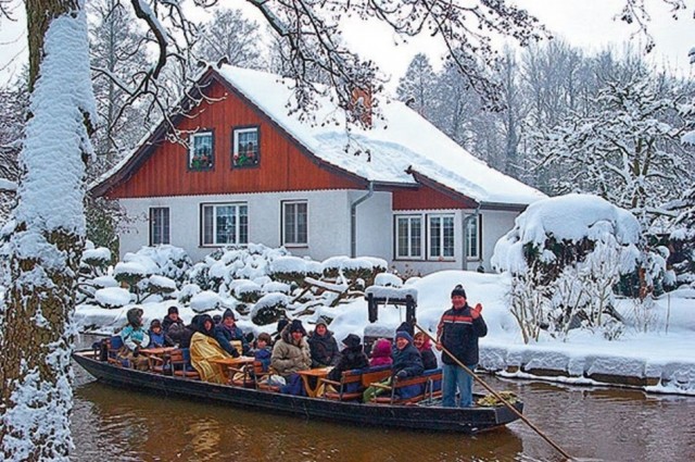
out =
[(70, 355), (94, 104), (83, 0), (26, 0), (30, 108), (2, 235), (0, 459), (68, 460)]

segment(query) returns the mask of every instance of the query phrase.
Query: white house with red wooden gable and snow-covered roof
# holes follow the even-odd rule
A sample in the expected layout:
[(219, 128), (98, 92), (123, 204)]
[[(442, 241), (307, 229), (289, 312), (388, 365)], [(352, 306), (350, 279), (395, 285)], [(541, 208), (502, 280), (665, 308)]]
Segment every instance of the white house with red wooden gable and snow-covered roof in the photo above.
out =
[[(490, 269), (496, 240), (545, 196), (476, 159), (405, 104), (346, 130), (319, 99), (316, 123), (288, 114), (277, 75), (218, 65), (199, 79), (214, 101), (162, 124), (92, 187), (134, 220), (121, 252), (172, 244), (193, 261), (226, 245), (295, 255), (370, 255), (399, 271)], [(376, 117), (375, 117), (376, 118)]]

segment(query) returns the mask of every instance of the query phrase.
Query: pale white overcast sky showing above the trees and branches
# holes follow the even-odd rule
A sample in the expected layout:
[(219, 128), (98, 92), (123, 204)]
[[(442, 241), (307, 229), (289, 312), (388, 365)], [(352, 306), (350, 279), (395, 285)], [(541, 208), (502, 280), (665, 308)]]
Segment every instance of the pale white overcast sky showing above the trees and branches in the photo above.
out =
[[(673, 21), (662, 0), (646, 0), (653, 16), (649, 27), (657, 43), (649, 59), (657, 65), (677, 68), (681, 75), (692, 75), (687, 51), (695, 47), (695, 2), (685, 2), (690, 10), (681, 13), (679, 21)], [(620, 12), (623, 0), (517, 0), (517, 4), (535, 14), (556, 37), (587, 50), (601, 50), (610, 43), (620, 45), (630, 40), (636, 30), (634, 26), (612, 21)], [(7, 20), (0, 22), (0, 85), (11, 79), (26, 61), (24, 10), (20, 0), (16, 0), (15, 13), (17, 23)], [(388, 85), (391, 89), (397, 86), (397, 79), (405, 73), (415, 53), (429, 53), (435, 68), (440, 64), (438, 58), (443, 53), (443, 47), (430, 38), (417, 38), (394, 46), (393, 35), (386, 26), (376, 23), (365, 26), (357, 20), (345, 21), (344, 37), (355, 51), (378, 62), (384, 73), (391, 76)], [(635, 37), (633, 42), (639, 46), (640, 37)]]

